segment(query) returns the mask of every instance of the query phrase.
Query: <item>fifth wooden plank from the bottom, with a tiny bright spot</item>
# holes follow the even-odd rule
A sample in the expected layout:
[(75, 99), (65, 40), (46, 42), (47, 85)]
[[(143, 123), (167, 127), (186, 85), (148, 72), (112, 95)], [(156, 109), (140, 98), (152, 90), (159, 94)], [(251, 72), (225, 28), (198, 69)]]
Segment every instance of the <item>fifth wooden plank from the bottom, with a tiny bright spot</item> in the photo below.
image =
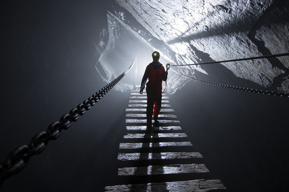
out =
[(185, 133), (128, 133), (124, 135), (124, 139), (136, 139), (136, 138), (179, 138), (179, 137), (188, 137)]

